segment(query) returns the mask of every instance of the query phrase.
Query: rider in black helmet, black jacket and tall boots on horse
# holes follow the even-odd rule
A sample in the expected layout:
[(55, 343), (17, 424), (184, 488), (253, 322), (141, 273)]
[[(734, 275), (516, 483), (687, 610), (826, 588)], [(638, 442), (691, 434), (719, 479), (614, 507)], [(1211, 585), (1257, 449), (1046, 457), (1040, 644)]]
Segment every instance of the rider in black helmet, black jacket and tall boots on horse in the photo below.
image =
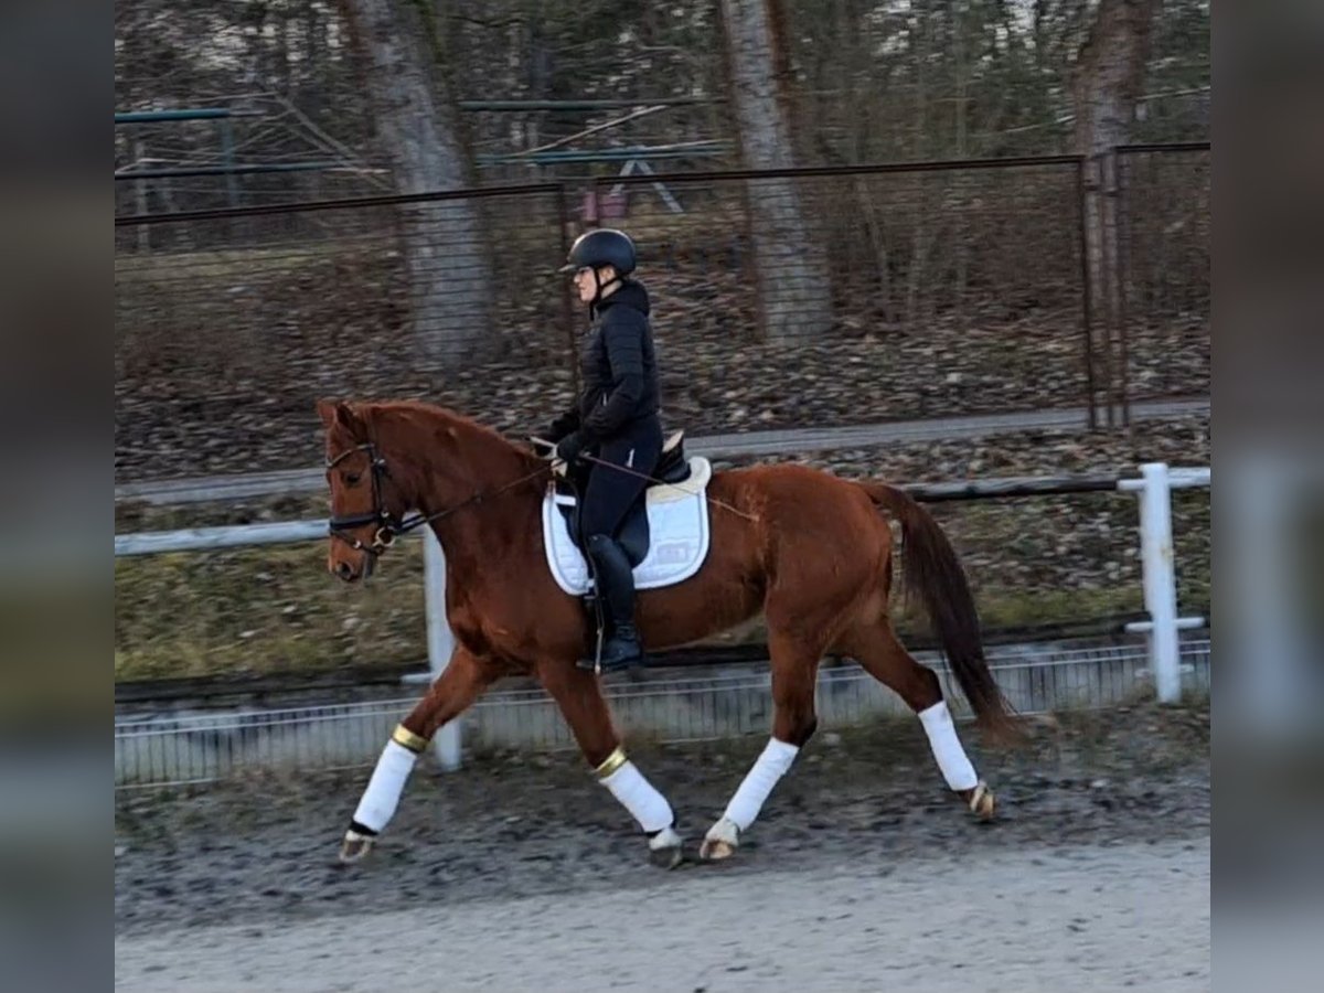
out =
[[(583, 491), (580, 538), (608, 621), (601, 653), (604, 671), (643, 655), (634, 626), (634, 572), (617, 542), (617, 531), (662, 454), (649, 294), (630, 278), (634, 265), (634, 242), (629, 236), (600, 228), (576, 238), (560, 270), (573, 273), (580, 302), (588, 305), (596, 323), (580, 355), (584, 389), (552, 422), (548, 441), (555, 442), (555, 457), (567, 466), (581, 453), (597, 459)], [(593, 659), (581, 661), (580, 666), (592, 669)]]

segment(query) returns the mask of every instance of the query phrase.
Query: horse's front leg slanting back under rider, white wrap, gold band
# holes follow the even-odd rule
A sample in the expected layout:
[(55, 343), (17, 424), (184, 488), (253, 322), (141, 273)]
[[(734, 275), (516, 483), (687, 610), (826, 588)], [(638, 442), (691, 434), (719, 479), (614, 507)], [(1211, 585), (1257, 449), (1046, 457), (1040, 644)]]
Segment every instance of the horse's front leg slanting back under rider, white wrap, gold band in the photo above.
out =
[(666, 869), (679, 865), (682, 838), (675, 830), (671, 805), (626, 756), (597, 675), (579, 669), (575, 659), (544, 662), (538, 674), (561, 708), (597, 781), (630, 812), (647, 835), (653, 863)]

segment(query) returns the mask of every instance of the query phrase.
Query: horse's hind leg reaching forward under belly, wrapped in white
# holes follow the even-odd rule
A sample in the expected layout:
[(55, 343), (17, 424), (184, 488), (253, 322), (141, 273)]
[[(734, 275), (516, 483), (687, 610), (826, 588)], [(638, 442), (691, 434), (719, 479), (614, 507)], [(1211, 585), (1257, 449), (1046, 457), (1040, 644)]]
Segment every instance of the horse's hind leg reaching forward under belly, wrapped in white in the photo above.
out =
[(745, 775), (722, 817), (704, 835), (699, 857), (723, 859), (735, 854), (740, 834), (759, 817), (773, 788), (790, 771), (800, 749), (818, 727), (814, 714), (814, 686), (822, 646), (804, 637), (772, 632), (772, 737), (753, 768)]

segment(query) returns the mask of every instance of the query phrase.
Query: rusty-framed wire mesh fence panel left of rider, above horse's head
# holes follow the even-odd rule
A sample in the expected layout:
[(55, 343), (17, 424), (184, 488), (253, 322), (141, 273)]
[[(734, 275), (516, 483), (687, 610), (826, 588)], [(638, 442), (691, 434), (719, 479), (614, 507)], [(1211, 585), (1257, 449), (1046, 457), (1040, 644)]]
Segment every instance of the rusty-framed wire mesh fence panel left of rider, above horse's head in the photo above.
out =
[(489, 188), (122, 225), (117, 474), (315, 463), (323, 396), (441, 401), (502, 429), (527, 426), (511, 397), (568, 401), (561, 197)]

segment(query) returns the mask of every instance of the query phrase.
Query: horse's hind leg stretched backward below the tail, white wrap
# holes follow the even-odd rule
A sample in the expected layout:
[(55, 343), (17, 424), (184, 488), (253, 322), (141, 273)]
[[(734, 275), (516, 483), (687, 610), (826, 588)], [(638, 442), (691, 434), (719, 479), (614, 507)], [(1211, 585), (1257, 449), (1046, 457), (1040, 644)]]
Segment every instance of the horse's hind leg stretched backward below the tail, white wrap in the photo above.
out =
[(922, 666), (898, 641), (891, 622), (883, 617), (853, 629), (835, 646), (850, 655), (883, 686), (891, 687), (919, 716), (937, 768), (947, 785), (980, 818), (993, 817), (993, 792), (974, 772), (952, 714), (943, 699), (937, 674)]

